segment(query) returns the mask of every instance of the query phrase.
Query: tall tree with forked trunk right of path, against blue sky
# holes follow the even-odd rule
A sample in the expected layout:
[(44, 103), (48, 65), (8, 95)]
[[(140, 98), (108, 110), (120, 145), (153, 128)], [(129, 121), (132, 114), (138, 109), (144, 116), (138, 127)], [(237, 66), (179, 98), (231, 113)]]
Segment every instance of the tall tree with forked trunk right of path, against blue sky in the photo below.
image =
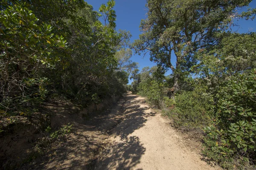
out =
[[(172, 69), (174, 89), (179, 79), (196, 64), (194, 52), (215, 45), (213, 35), (227, 29), (238, 7), (251, 0), (147, 0), (148, 18), (140, 24), (140, 35), (134, 41), (136, 53), (150, 51), (150, 60)], [(175, 55), (175, 66), (171, 62)]]

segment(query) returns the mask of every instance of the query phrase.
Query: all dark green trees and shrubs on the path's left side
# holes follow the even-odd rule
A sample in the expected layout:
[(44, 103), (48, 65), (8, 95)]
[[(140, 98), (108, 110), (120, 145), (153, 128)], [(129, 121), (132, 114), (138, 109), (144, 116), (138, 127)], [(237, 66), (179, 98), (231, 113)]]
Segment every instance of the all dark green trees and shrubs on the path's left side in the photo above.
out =
[(85, 107), (122, 94), (137, 63), (115, 57), (131, 35), (116, 31), (114, 5), (98, 13), (83, 0), (1, 1), (0, 112), (28, 115), (51, 96)]

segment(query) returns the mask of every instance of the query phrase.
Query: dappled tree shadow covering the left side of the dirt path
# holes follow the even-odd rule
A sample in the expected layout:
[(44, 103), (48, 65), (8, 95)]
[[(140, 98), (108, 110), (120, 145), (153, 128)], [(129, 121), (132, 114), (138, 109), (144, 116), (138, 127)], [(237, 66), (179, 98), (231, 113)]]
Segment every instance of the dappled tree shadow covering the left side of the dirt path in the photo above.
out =
[[(64, 123), (71, 122), (76, 129), (64, 142), (23, 169), (122, 170), (136, 166), (146, 148), (132, 133), (156, 114), (142, 106), (145, 100), (137, 97), (128, 94), (115, 107), (90, 120), (74, 117), (75, 114), (62, 115)], [(109, 135), (115, 141), (106, 143)]]

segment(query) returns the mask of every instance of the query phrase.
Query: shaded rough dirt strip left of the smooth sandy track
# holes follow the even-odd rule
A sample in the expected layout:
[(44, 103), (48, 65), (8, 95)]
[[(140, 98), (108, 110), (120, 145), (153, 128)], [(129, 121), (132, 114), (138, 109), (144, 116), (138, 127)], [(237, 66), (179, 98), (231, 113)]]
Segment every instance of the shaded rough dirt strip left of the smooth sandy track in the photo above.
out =
[(56, 113), (52, 124), (70, 123), (72, 132), (64, 140), (52, 143), (46, 154), (23, 165), (22, 169), (94, 169), (98, 154), (108, 144), (111, 129), (120, 122), (118, 115), (124, 102), (125, 97), (122, 97), (111, 108), (90, 116), (90, 119), (86, 114), (89, 109), (78, 113)]

